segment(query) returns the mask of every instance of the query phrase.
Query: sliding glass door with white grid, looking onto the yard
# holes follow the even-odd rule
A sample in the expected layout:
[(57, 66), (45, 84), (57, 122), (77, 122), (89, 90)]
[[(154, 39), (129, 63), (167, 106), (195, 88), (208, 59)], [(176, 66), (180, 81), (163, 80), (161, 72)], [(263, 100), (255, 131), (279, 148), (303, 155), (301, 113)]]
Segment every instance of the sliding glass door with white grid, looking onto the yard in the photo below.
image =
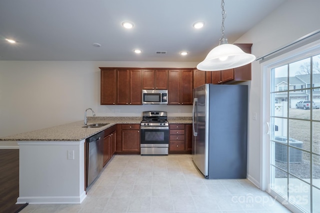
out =
[(269, 190), (297, 212), (320, 213), (320, 54), (269, 74)]

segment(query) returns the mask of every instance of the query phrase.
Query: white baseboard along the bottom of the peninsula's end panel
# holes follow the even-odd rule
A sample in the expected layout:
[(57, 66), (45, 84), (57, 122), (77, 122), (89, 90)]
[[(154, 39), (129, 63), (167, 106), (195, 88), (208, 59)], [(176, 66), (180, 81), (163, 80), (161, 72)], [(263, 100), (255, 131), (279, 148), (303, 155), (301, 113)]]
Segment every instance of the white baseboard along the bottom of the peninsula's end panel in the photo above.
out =
[(18, 197), (15, 204), (81, 204), (85, 197), (85, 192), (80, 196)]

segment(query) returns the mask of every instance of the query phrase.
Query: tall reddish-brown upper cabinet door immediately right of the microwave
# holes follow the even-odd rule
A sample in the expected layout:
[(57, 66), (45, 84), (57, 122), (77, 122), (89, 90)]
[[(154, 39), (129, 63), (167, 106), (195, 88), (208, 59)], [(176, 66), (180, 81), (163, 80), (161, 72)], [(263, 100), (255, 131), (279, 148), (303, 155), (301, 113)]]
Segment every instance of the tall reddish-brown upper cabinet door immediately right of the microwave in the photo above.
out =
[(169, 70), (168, 104), (180, 104), (180, 71)]

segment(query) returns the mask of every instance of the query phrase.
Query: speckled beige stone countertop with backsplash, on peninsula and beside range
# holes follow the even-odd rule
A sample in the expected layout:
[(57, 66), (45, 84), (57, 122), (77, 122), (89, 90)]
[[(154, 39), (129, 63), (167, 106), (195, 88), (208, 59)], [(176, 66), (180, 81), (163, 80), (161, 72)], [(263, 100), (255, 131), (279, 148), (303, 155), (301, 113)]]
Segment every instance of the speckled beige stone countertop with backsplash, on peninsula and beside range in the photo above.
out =
[[(88, 117), (87, 125), (108, 123), (98, 128), (82, 128), (83, 121), (62, 124), (45, 129), (19, 133), (0, 138), (0, 141), (81, 141), (115, 124), (139, 124), (142, 117)], [(168, 117), (169, 124), (191, 124), (189, 117)]]

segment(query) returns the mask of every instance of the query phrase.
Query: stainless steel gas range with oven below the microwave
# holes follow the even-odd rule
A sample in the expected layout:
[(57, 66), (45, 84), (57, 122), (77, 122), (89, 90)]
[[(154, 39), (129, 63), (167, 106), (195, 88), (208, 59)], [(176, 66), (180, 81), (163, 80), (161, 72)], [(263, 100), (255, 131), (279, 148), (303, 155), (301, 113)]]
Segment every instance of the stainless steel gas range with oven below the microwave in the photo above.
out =
[(166, 112), (143, 112), (140, 136), (141, 155), (167, 155), (169, 151), (169, 123)]

